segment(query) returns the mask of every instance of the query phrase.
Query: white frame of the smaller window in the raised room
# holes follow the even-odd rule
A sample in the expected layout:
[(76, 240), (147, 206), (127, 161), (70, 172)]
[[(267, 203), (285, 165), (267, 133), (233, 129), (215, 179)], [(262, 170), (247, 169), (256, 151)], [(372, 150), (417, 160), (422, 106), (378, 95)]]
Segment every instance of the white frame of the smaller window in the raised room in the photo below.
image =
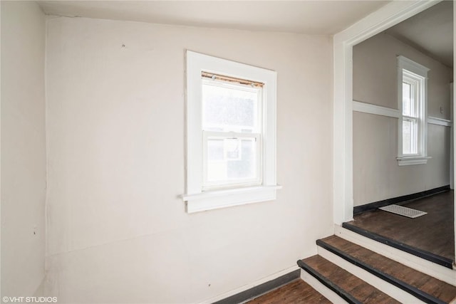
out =
[[(404, 56), (398, 56), (398, 165), (426, 164), (427, 159), (427, 72), (426, 68)], [(418, 117), (403, 115), (403, 82), (413, 87)], [(417, 121), (417, 153), (403, 153), (403, 121)]]

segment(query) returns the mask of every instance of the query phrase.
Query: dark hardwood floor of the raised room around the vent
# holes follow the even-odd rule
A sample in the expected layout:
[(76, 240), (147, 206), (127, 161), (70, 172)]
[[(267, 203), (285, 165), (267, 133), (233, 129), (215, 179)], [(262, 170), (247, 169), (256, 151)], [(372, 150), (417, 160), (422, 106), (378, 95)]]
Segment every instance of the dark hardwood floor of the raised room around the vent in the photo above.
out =
[(401, 204), (427, 212), (415, 219), (375, 210), (354, 216), (348, 224), (454, 261), (453, 195), (447, 191)]

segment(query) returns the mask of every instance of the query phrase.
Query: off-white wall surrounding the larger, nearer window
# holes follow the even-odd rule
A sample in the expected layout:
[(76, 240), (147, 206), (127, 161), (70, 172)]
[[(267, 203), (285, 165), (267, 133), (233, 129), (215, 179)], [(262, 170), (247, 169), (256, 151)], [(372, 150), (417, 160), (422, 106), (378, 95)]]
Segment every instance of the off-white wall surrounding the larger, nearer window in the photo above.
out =
[[(276, 201), (185, 212), (186, 49), (277, 71)], [(195, 303), (296, 265), (333, 233), (331, 37), (58, 18), (46, 60), (59, 301)]]

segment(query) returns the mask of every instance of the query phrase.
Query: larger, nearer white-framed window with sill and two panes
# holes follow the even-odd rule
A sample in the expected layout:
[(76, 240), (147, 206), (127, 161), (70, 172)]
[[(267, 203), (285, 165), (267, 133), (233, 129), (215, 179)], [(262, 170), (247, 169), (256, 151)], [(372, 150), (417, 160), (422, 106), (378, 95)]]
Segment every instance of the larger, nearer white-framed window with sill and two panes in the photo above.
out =
[(187, 51), (187, 212), (276, 198), (276, 73)]

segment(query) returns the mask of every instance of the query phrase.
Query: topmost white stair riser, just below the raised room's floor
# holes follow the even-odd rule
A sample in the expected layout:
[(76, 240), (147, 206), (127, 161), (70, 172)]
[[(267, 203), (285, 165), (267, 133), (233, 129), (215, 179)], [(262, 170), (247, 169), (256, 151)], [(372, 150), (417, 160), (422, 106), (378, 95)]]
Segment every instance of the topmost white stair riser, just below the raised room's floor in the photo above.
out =
[(441, 281), (444, 281), (445, 283), (456, 286), (455, 270), (437, 265), (430, 261), (426, 261), (423, 258), (418, 258), (418, 256), (413, 256), (410, 253), (405, 253), (404, 251), (400, 251), (399, 249), (390, 247), (383, 243), (373, 241), (372, 239), (368, 239), (338, 225), (335, 225), (334, 234), (341, 237), (342, 239), (346, 239), (347, 241), (356, 243), (359, 246), (368, 248), (371, 251), (380, 253), (381, 255), (392, 259), (393, 261), (397, 261), (405, 266), (414, 268), (417, 271), (427, 274), (428, 276), (432, 276)]

